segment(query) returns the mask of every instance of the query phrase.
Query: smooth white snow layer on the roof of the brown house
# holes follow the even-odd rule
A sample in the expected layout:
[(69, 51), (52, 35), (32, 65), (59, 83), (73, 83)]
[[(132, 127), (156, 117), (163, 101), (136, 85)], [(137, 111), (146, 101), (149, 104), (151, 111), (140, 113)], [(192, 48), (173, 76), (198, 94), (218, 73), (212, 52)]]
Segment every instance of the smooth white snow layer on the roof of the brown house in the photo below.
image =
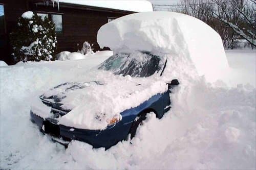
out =
[(117, 10), (134, 11), (134, 12), (146, 12), (153, 11), (151, 2), (145, 0), (138, 1), (113, 1), (113, 0), (57, 0), (59, 3), (87, 5), (93, 7), (111, 8)]

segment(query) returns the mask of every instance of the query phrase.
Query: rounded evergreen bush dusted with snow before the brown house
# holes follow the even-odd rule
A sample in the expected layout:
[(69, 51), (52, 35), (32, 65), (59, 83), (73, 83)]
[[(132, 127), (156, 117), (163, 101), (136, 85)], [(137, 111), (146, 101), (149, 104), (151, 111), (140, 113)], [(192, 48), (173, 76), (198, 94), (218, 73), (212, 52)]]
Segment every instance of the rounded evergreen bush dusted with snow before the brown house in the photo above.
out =
[(55, 60), (55, 26), (48, 18), (31, 11), (18, 18), (17, 29), (10, 34), (13, 56), (18, 61)]

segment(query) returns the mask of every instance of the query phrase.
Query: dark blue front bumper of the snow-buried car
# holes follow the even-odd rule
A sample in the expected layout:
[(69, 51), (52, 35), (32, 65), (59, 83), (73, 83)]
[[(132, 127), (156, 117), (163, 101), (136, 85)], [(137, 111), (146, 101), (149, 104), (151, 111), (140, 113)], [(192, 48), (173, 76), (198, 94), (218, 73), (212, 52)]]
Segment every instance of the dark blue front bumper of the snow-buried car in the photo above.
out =
[[(131, 124), (123, 124), (121, 121), (108, 126), (104, 130), (77, 129), (64, 125), (58, 125), (51, 118), (42, 118), (30, 111), (31, 121), (35, 123), (44, 133), (55, 138), (66, 141), (79, 140), (93, 145), (94, 148), (104, 147), (106, 149), (115, 145), (118, 141), (127, 138)], [(53, 138), (53, 140), (55, 140)], [(56, 140), (55, 140), (56, 141)], [(57, 141), (58, 142), (58, 141)]]

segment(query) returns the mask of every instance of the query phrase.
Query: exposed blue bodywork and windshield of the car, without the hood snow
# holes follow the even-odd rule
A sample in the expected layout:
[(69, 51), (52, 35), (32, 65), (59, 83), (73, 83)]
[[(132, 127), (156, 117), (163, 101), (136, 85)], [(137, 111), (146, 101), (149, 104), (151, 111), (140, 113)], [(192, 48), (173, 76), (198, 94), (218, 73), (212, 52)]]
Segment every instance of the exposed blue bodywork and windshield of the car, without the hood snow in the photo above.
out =
[[(164, 74), (168, 62), (166, 58), (145, 51), (137, 51), (136, 55), (144, 56), (147, 62), (134, 57), (134, 54), (120, 52), (101, 63), (97, 70), (101, 74), (111, 73), (114, 78), (129, 75), (136, 78), (136, 80), (146, 80), (153, 75), (161, 77)], [(72, 111), (72, 109), (65, 107), (66, 104), (63, 101), (69, 93), (74, 93), (76, 90), (86, 90), (88, 86), (95, 88), (104, 86), (105, 82), (101, 80), (82, 83), (66, 82), (53, 87), (50, 90), (50, 95), (46, 92), (39, 97), (41, 104), (32, 107), (31, 120), (43, 133), (51, 135), (54, 141), (64, 144), (66, 147), (69, 141), (79, 140), (93, 145), (94, 148), (104, 147), (108, 149), (119, 141), (127, 139), (129, 134), (133, 138), (147, 113), (154, 112), (156, 117), (161, 118), (170, 109), (169, 95), (178, 84), (177, 79), (166, 82), (164, 92), (156, 93), (148, 100), (138, 103), (137, 106), (121, 111), (120, 118), (111, 119), (104, 129), (83, 129), (60, 121), (62, 116), (71, 114)], [(142, 85), (138, 83), (134, 87), (139, 86)], [(46, 107), (47, 109), (41, 109), (40, 107)], [(100, 121), (100, 115), (96, 116), (95, 119)]]

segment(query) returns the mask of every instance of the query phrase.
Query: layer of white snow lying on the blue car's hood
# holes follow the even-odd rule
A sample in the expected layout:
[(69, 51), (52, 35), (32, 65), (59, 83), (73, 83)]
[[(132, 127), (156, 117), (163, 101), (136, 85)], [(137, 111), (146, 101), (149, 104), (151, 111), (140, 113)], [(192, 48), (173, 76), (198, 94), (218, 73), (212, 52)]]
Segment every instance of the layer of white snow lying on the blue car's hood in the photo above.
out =
[[(63, 110), (71, 110), (57, 118), (58, 124), (102, 130), (108, 126), (107, 119), (167, 90), (167, 85), (161, 81), (159, 74), (150, 78), (132, 78), (97, 69), (90, 72), (88, 77), (82, 78), (85, 81), (77, 78), (79, 82), (60, 84), (41, 96), (48, 102), (60, 104)], [(92, 81), (92, 78), (99, 81)], [(41, 103), (38, 100), (31, 110), (43, 118), (50, 116), (50, 107), (38, 102)]]

